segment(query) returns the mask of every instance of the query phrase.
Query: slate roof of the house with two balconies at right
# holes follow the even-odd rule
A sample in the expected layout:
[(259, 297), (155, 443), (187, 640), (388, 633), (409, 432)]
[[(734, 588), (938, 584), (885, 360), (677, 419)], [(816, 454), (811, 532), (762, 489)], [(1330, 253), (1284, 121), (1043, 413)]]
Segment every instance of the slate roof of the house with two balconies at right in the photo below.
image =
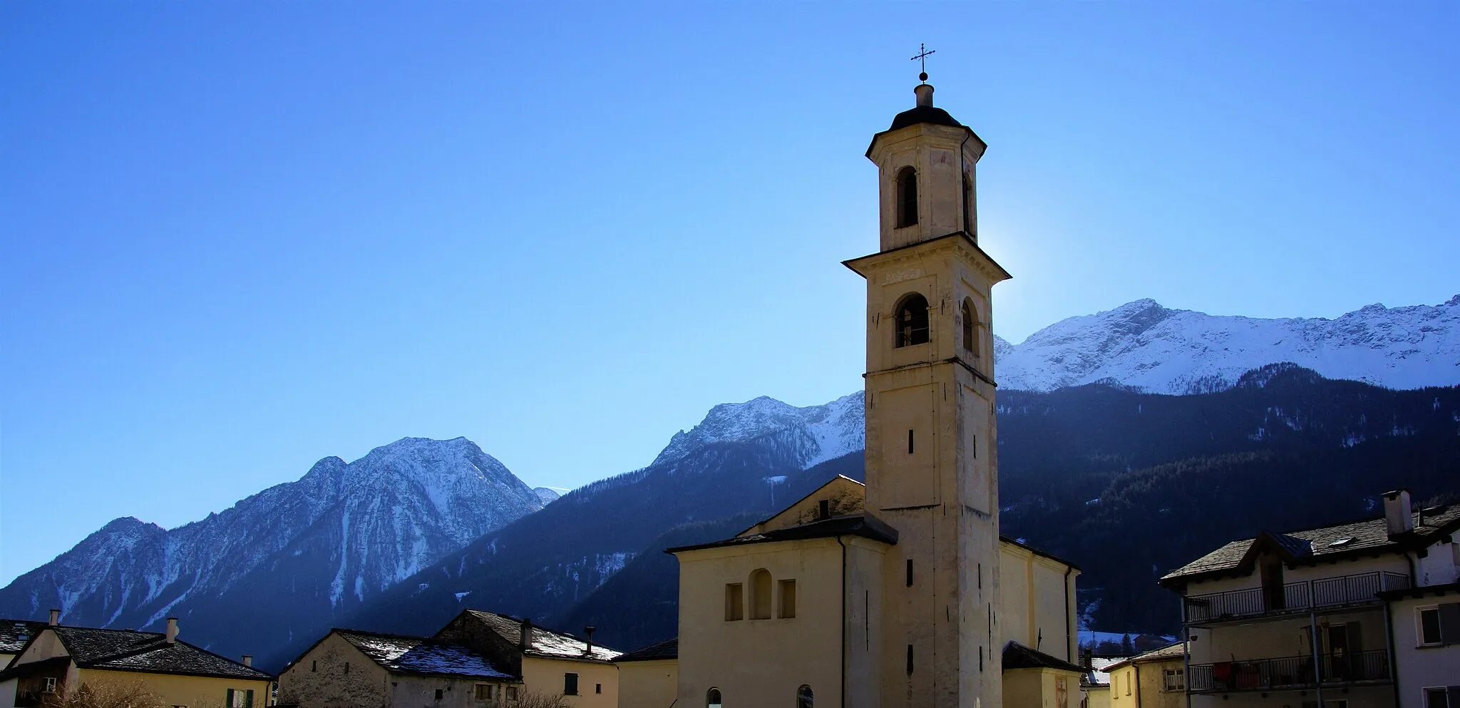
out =
[[(1424, 515), (1424, 523), (1421, 523)], [(1256, 562), (1256, 550), (1263, 546), (1273, 549), (1289, 563), (1315, 563), (1372, 553), (1402, 553), (1429, 546), (1441, 536), (1460, 530), (1460, 504), (1415, 512), (1415, 530), (1393, 539), (1383, 517), (1348, 524), (1307, 528), (1302, 531), (1263, 531), (1253, 539), (1231, 542), (1196, 561), (1191, 561), (1161, 578), (1167, 587), (1180, 587), (1187, 581), (1207, 575), (1248, 574)], [(1334, 542), (1353, 539), (1334, 546)]]

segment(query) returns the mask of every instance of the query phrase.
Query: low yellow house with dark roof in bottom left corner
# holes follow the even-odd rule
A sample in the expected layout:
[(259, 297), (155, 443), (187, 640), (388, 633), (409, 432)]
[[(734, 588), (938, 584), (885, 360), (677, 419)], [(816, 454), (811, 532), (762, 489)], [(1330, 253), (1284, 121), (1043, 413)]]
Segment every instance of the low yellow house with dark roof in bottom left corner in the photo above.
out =
[(273, 676), (178, 639), (166, 632), (64, 626), (60, 610), (26, 639), (0, 672), (0, 708), (38, 707), (73, 690), (145, 693), (172, 708), (270, 705)]

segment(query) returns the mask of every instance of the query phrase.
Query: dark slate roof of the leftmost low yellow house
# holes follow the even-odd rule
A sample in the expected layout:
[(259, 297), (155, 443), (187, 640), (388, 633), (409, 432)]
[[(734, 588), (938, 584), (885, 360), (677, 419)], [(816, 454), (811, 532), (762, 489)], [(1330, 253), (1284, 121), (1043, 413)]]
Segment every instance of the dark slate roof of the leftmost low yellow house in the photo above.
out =
[(247, 680), (273, 676), (184, 641), (168, 644), (166, 635), (131, 629), (47, 626), (61, 639), (79, 669), (111, 672), (172, 673)]

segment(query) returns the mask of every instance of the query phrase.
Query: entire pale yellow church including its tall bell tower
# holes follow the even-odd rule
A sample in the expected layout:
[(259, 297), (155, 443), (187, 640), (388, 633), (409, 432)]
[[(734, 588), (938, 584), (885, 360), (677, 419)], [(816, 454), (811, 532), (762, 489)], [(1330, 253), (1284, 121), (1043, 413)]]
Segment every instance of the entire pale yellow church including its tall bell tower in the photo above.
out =
[(991, 289), (1010, 276), (978, 247), (986, 145), (926, 79), (867, 147), (880, 248), (845, 261), (867, 282), (866, 485), (670, 549), (676, 707), (1080, 704), (1079, 571), (999, 534)]

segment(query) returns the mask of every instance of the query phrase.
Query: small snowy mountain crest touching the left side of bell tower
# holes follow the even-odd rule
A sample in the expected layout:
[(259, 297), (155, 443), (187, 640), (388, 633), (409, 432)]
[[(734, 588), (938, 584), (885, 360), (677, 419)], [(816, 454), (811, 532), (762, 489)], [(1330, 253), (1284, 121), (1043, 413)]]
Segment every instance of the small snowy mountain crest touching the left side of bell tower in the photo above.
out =
[(768, 396), (745, 403), (721, 403), (689, 432), (676, 432), (654, 464), (672, 463), (712, 442), (781, 435), (791, 441), (799, 466), (807, 469), (861, 450), (863, 415), (861, 391), (803, 409)]

